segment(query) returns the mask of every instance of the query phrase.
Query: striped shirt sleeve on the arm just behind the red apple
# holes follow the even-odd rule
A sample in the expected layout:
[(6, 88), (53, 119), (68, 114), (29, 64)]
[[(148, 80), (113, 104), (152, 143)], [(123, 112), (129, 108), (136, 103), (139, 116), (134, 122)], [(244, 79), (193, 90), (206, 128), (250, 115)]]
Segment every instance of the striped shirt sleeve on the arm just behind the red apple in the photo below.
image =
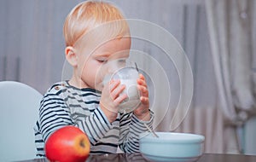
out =
[(87, 134), (91, 144), (96, 144), (112, 128), (100, 107), (85, 117), (83, 115), (81, 118), (72, 119), (70, 109), (65, 101), (61, 96), (55, 94), (44, 96), (43, 101), (41, 101), (39, 116), (40, 131), (44, 142), (55, 130), (73, 124)]

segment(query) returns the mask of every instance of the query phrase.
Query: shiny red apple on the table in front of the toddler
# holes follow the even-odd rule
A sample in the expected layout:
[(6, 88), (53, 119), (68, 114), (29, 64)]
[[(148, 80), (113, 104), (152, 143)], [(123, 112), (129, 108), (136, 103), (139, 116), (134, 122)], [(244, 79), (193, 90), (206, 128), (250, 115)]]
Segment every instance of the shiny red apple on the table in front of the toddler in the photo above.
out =
[(64, 126), (49, 136), (45, 153), (50, 161), (84, 162), (90, 153), (90, 141), (79, 128)]

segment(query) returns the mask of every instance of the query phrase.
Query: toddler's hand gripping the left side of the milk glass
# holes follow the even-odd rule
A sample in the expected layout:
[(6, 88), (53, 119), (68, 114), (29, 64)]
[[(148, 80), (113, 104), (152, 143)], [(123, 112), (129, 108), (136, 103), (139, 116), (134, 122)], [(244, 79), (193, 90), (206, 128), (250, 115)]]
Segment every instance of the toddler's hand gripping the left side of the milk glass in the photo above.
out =
[(120, 95), (123, 90), (125, 85), (120, 84), (119, 80), (111, 80), (102, 90), (100, 107), (110, 123), (117, 118), (119, 104), (127, 98), (126, 94)]

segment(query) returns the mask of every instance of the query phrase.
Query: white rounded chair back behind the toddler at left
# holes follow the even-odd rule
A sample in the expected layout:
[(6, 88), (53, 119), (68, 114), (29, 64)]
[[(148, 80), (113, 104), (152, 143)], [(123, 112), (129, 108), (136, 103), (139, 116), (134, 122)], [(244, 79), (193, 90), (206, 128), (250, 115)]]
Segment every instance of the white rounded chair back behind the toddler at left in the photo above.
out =
[(0, 82), (0, 161), (36, 157), (33, 126), (42, 97), (26, 84)]

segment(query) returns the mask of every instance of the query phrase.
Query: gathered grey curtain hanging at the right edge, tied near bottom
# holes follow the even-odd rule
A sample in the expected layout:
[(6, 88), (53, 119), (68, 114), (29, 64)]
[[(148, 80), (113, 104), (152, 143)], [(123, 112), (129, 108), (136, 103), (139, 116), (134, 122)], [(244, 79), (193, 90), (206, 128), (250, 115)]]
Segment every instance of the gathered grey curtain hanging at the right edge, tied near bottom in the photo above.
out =
[(243, 144), (239, 136), (230, 134), (234, 135), (255, 113), (254, 3), (254, 0), (206, 1), (219, 108), (224, 113), (224, 138), (237, 143), (230, 146), (231, 153), (236, 153), (238, 147), (242, 151)]

